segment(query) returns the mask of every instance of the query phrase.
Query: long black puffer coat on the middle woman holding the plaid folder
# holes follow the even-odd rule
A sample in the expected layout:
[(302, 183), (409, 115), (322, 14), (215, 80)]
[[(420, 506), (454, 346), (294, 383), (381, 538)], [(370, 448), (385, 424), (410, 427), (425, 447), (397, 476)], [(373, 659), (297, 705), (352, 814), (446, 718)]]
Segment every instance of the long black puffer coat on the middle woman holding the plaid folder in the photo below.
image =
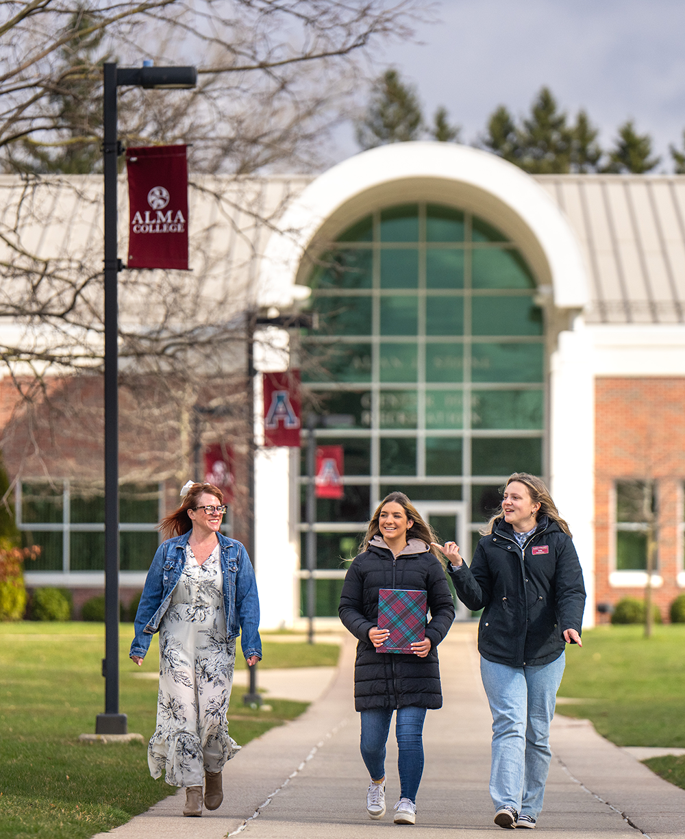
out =
[[(381, 545), (384, 542), (379, 537)], [(426, 638), (431, 649), (425, 659), (418, 655), (377, 653), (369, 641), (369, 629), (378, 623), (380, 588), (418, 589), (427, 592), (431, 621)], [(454, 620), (454, 604), (439, 560), (420, 539), (410, 539), (396, 557), (387, 547), (370, 544), (353, 560), (340, 596), (340, 619), (359, 639), (354, 665), (354, 707), (442, 707), (437, 645)]]

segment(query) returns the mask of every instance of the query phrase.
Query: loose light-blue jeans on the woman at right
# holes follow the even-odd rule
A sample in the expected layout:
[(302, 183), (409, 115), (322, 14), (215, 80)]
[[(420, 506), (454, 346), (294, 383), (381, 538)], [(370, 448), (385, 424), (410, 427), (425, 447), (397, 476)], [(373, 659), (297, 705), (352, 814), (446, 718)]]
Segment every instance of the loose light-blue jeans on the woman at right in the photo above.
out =
[(509, 667), (480, 659), (493, 715), (490, 795), (495, 809), (513, 807), (537, 819), (552, 751), (549, 727), (566, 654), (539, 667)]

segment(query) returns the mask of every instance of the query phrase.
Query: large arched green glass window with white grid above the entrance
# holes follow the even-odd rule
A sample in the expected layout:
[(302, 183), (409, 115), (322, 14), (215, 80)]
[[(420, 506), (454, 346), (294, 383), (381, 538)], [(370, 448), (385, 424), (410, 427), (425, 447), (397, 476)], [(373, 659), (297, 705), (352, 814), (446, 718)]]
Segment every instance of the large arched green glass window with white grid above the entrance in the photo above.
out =
[(353, 555), (391, 490), (433, 503), (454, 538), (454, 510), (473, 533), (510, 472), (542, 473), (542, 312), (499, 230), (448, 206), (389, 207), (340, 234), (310, 283), (320, 319), (304, 381), (332, 414), (316, 434), (344, 446), (346, 473), (343, 501), (318, 503), (319, 568)]

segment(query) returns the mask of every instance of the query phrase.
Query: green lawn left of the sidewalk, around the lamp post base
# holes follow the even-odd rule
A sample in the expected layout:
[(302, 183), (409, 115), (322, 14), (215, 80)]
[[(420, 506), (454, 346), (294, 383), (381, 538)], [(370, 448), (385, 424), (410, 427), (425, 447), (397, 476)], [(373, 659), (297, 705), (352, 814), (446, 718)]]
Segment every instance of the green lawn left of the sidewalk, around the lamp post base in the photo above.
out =
[[(138, 668), (128, 659), (132, 637), (133, 625), (122, 624), (120, 710), (128, 731), (147, 741), (157, 682), (133, 674), (156, 671), (159, 648), (154, 636)], [(175, 792), (150, 778), (147, 743), (78, 742), (79, 734), (95, 731), (103, 711), (103, 648), (100, 623), (0, 623), (0, 839), (86, 839)], [(260, 666), (331, 665), (337, 654), (334, 644), (266, 643)], [(269, 696), (271, 710), (254, 711), (243, 706), (242, 693), (234, 691), (228, 714), (231, 735), (242, 744), (306, 708)]]

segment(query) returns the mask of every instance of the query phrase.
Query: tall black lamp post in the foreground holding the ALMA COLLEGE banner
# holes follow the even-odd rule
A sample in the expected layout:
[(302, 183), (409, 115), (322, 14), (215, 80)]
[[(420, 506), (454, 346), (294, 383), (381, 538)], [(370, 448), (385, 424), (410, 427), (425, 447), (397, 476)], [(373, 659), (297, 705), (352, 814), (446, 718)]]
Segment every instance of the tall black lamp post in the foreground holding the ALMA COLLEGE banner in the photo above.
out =
[(126, 734), (126, 714), (119, 713), (119, 451), (118, 451), (118, 289), (123, 263), (117, 256), (117, 88), (191, 88), (195, 67), (118, 68), (104, 65), (103, 169), (105, 239), (105, 712), (98, 714), (96, 734)]

